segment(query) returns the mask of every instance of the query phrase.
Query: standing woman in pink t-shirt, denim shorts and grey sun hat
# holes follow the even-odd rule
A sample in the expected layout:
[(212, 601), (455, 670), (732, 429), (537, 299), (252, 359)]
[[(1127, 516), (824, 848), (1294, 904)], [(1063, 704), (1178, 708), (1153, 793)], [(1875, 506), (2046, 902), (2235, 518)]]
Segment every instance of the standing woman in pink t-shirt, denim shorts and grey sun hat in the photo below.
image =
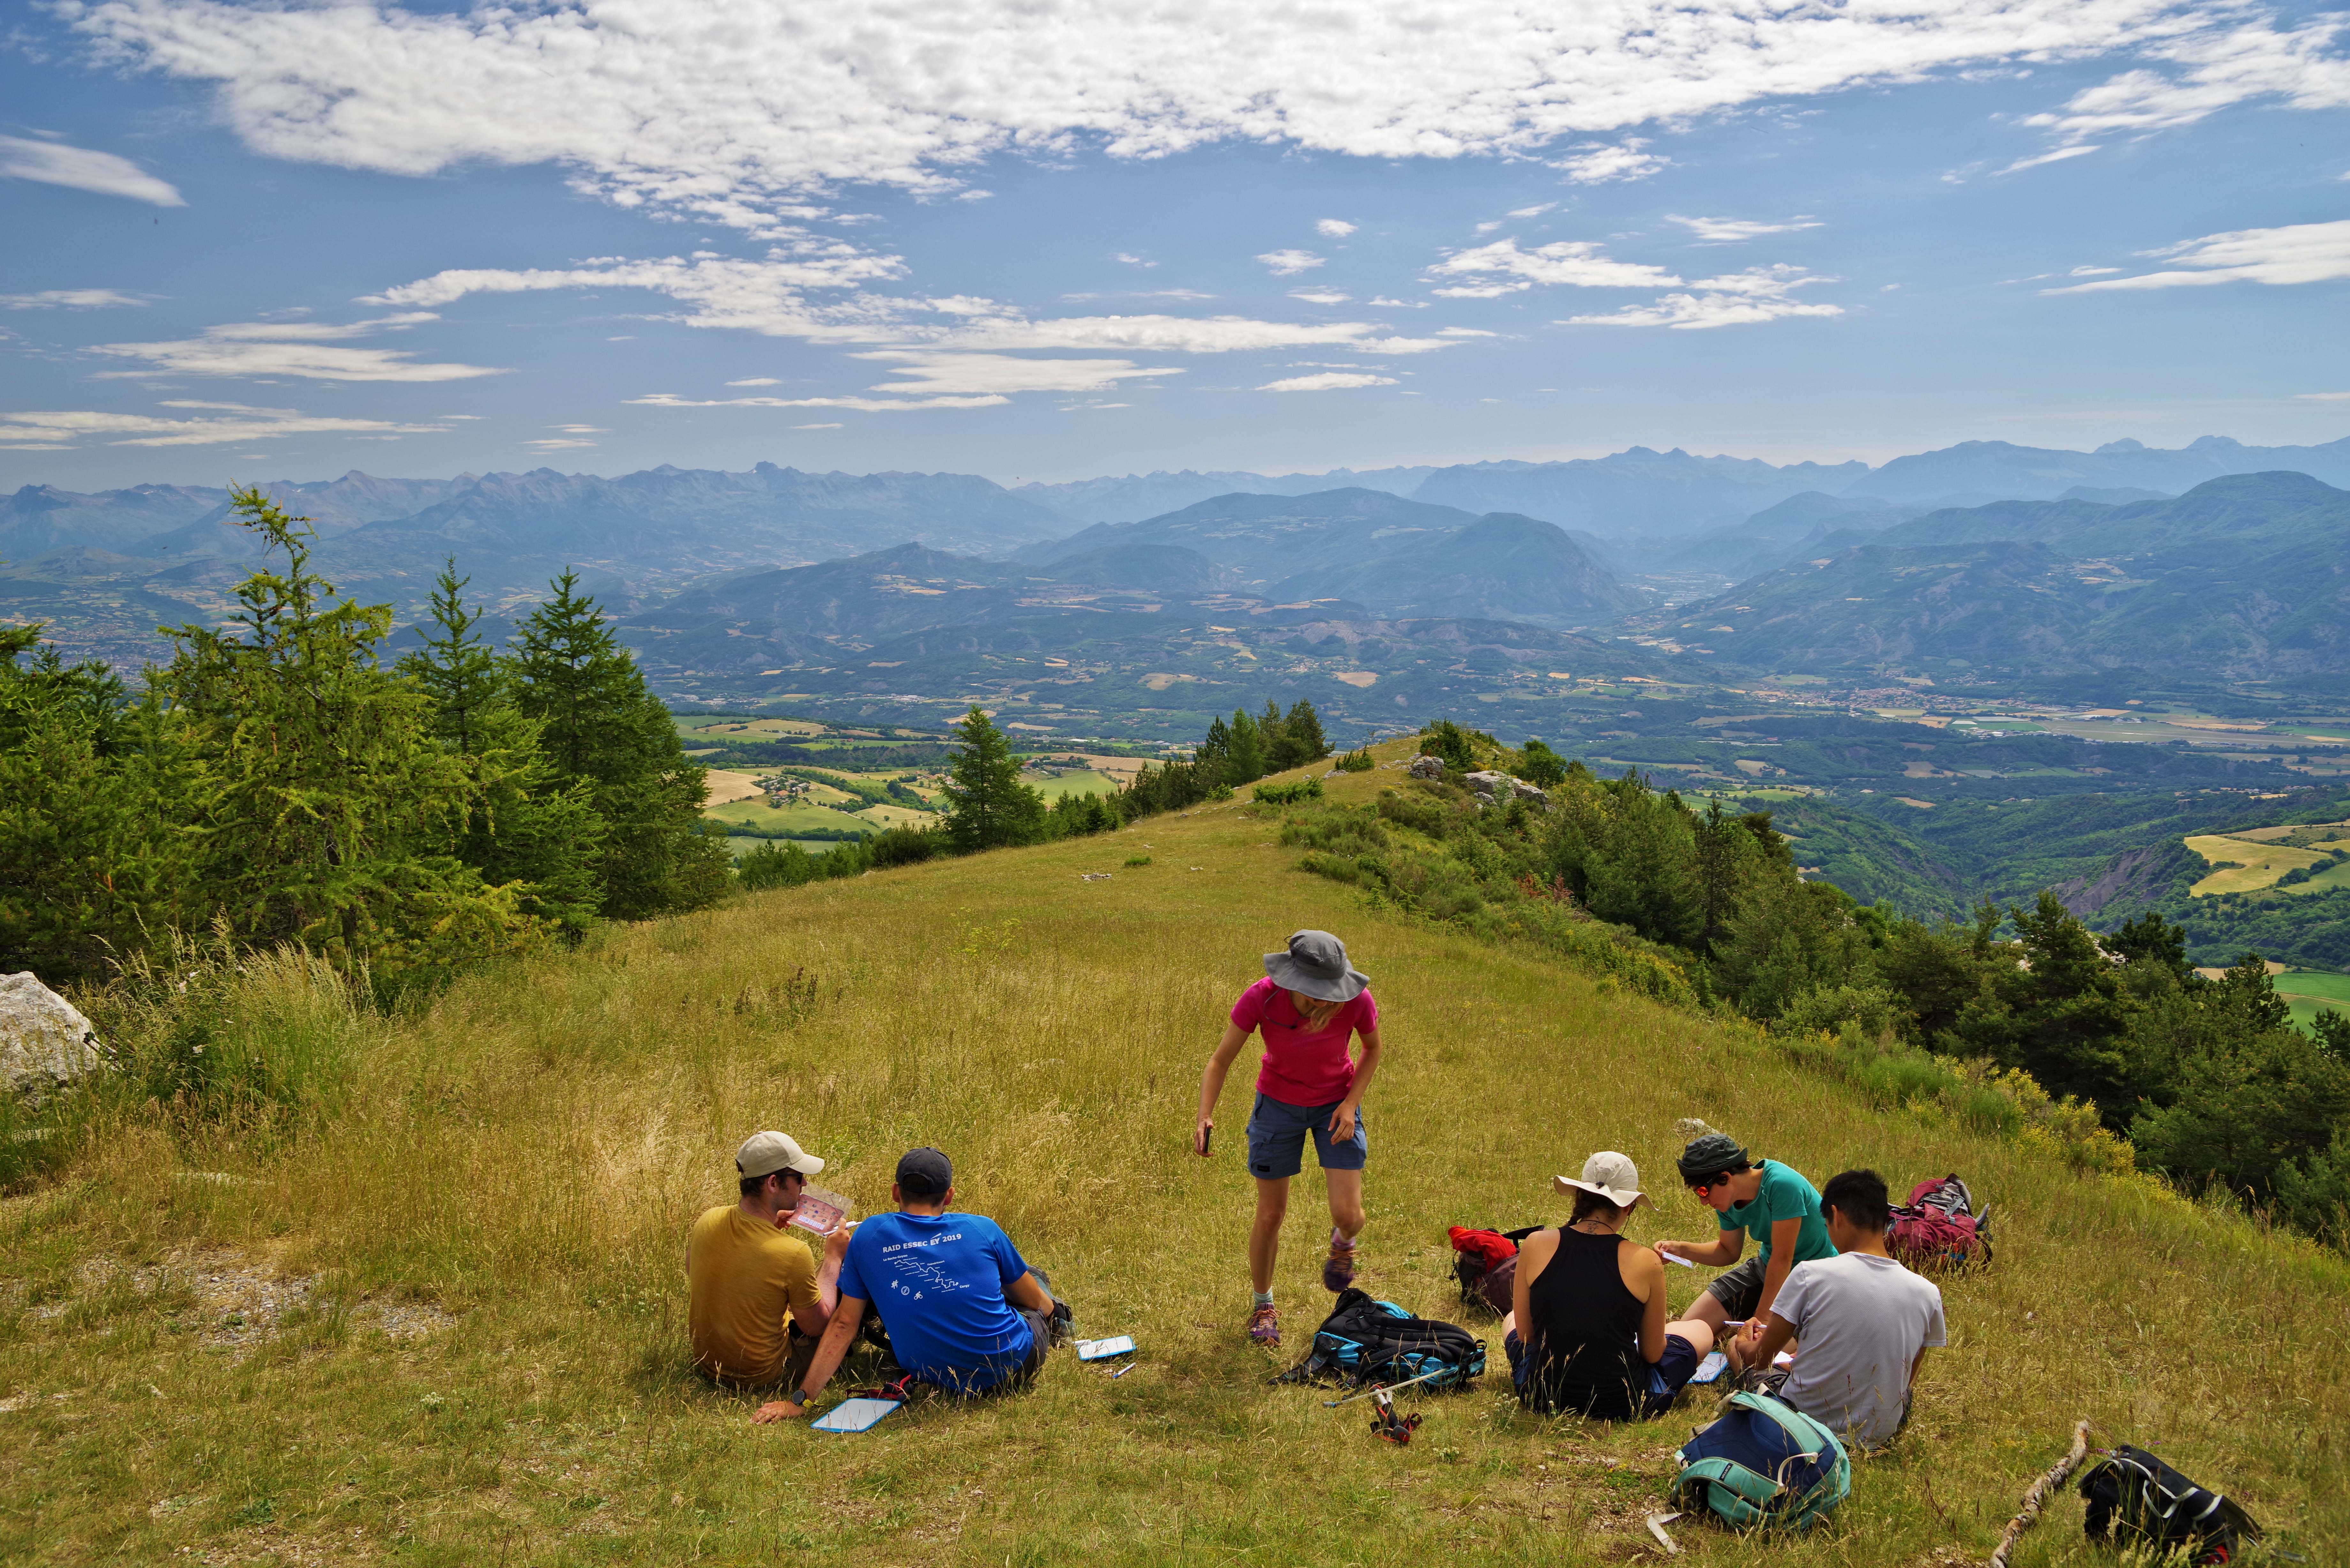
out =
[[(1370, 999), (1370, 976), (1347, 964), (1347, 945), (1328, 931), (1300, 931), (1288, 952), (1264, 954), (1257, 980), (1231, 1006), (1224, 1039), (1198, 1081), (1198, 1128), (1191, 1152), (1208, 1157), (1215, 1100), (1224, 1074), (1250, 1034), (1264, 1034), (1257, 1067), (1257, 1105), (1248, 1117), (1248, 1173), (1257, 1178), (1257, 1222), (1248, 1232), (1248, 1274), (1257, 1300), (1248, 1314), (1248, 1338), (1281, 1345), (1274, 1312), (1274, 1258), (1281, 1220), (1290, 1211), (1290, 1178), (1304, 1168), (1304, 1143), (1314, 1135), (1323, 1180), (1330, 1185), (1330, 1258), (1323, 1286), (1354, 1284), (1354, 1246), (1363, 1232), (1363, 1091), (1379, 1070), (1379, 1006)], [(1363, 1056), (1349, 1056), (1354, 1039)]]

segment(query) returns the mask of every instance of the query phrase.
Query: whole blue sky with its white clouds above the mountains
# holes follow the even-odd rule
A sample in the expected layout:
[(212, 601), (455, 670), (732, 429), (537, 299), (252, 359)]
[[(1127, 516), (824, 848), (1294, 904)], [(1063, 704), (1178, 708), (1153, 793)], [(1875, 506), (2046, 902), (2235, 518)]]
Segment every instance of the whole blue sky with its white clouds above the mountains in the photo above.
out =
[(2350, 12), (1560, 9), (9, 7), (0, 484), (2350, 433)]

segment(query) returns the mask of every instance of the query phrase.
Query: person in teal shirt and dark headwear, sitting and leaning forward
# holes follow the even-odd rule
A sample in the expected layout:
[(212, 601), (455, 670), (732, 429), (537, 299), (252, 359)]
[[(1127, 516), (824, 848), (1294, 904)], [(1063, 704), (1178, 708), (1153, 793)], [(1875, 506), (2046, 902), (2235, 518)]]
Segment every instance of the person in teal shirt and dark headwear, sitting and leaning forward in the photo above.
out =
[[(1680, 1180), (1720, 1215), (1713, 1241), (1659, 1241), (1666, 1258), (1725, 1269), (1690, 1307), (1694, 1321), (1716, 1333), (1744, 1321), (1746, 1338), (1760, 1340), (1760, 1324), (1779, 1300), (1788, 1269), (1814, 1258), (1835, 1258), (1828, 1220), (1819, 1213), (1819, 1187), (1777, 1159), (1751, 1159), (1727, 1133), (1701, 1133), (1680, 1152)], [(1760, 1253), (1739, 1262), (1746, 1237)], [(1737, 1267), (1732, 1267), (1737, 1265)]]

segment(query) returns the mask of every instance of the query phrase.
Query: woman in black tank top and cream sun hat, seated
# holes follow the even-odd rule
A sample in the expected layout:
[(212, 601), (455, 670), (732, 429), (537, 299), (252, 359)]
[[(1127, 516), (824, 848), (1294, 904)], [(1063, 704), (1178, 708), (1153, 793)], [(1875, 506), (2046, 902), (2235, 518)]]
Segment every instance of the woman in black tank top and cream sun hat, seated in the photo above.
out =
[(1664, 1316), (1664, 1265), (1619, 1232), (1643, 1201), (1622, 1154), (1593, 1154), (1560, 1229), (1535, 1232), (1518, 1251), (1516, 1312), (1504, 1349), (1518, 1399), (1546, 1415), (1636, 1420), (1673, 1403), (1713, 1349), (1699, 1321)]

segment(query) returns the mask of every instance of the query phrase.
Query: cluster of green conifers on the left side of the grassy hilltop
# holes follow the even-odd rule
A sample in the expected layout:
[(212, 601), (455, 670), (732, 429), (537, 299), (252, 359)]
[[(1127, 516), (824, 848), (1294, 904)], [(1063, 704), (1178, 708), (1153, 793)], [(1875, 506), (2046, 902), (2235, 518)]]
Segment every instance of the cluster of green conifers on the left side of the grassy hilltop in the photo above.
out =
[(214, 931), (383, 983), (728, 886), (703, 769), (573, 574), (494, 651), (451, 567), (385, 665), (392, 609), (258, 489), (233, 505), (268, 564), (139, 691), (0, 628), (0, 969), (94, 980)]

